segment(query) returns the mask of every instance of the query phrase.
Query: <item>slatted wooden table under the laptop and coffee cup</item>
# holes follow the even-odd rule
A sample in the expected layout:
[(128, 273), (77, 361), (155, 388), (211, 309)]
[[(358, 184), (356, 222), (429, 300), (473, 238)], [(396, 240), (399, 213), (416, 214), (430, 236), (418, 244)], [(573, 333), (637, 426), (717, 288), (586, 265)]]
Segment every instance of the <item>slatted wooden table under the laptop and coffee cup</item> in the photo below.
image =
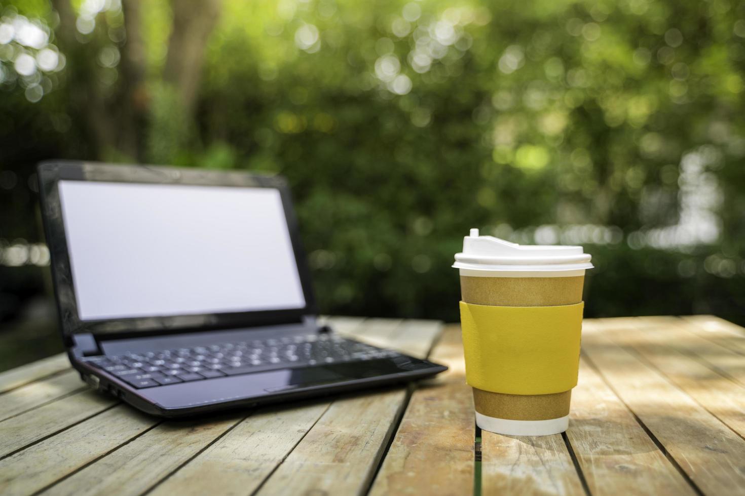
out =
[(329, 319), (450, 367), (416, 387), (163, 422), (58, 355), (0, 374), (1, 495), (745, 493), (745, 330), (588, 320), (569, 430), (478, 431), (457, 326)]

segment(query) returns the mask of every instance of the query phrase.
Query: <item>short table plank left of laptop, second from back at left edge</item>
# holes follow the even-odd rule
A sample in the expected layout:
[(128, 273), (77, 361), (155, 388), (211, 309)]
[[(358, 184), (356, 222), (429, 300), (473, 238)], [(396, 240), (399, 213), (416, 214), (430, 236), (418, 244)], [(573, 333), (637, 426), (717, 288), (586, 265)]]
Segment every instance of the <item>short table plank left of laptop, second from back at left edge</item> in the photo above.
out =
[(16, 389), (0, 396), (0, 420), (18, 415), (86, 387), (86, 384), (80, 381), (80, 375), (75, 370), (69, 370), (48, 379), (16, 387)]

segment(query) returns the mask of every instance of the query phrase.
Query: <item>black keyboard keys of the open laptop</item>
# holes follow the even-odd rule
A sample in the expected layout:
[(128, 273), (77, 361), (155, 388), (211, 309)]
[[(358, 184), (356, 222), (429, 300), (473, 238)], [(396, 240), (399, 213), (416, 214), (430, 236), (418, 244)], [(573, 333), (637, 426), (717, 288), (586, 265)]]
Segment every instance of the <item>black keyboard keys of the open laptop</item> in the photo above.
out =
[(400, 353), (337, 335), (313, 334), (177, 350), (127, 352), (89, 357), (85, 361), (134, 387), (143, 388), (395, 356)]

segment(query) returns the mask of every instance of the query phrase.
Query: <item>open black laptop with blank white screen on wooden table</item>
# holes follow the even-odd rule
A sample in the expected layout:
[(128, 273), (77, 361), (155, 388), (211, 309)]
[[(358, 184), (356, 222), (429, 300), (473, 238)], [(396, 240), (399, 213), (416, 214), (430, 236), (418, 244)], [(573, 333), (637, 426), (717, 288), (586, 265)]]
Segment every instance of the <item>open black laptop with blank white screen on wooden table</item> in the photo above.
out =
[(320, 325), (280, 177), (80, 161), (38, 173), (64, 344), (101, 392), (179, 417), (446, 370)]

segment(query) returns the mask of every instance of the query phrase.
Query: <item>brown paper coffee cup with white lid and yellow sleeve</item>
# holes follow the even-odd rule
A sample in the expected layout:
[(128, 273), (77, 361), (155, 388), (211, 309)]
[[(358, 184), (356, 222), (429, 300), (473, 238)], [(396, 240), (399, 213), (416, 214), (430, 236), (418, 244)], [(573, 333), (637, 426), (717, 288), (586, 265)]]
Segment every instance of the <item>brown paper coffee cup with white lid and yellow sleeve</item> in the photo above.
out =
[[(464, 303), (495, 307), (499, 312), (509, 311), (504, 307), (523, 307), (519, 309), (523, 317), (530, 317), (533, 312), (553, 312), (577, 306), (582, 302), (585, 271), (592, 268), (590, 255), (583, 253), (580, 246), (521, 246), (493, 236), (479, 236), (478, 229), (472, 229), (470, 236), (464, 238), (463, 252), (456, 254), (455, 260), (453, 267), (460, 271), (460, 289)], [(557, 319), (565, 318), (563, 315), (565, 312), (559, 313)], [(575, 315), (574, 319), (578, 319), (581, 326), (581, 306), (572, 315)], [(465, 321), (463, 323), (465, 325)], [(545, 326), (542, 332), (551, 332), (549, 327), (553, 323), (551, 321), (551, 325)], [(484, 325), (479, 326), (481, 330), (478, 332), (489, 329), (489, 323), (482, 324)], [(571, 326), (577, 323), (566, 324)], [(524, 332), (521, 326), (515, 326), (514, 330), (500, 328), (498, 332), (510, 335), (510, 344), (504, 346), (509, 346), (511, 353), (519, 355), (519, 358), (513, 356), (513, 361), (539, 359), (531, 356), (531, 347), (535, 345), (530, 344), (529, 340), (525, 343), (521, 341), (519, 333)], [(576, 359), (579, 361), (579, 329), (574, 333), (577, 342), (567, 352), (573, 354), (572, 350), (576, 349)], [(464, 332), (464, 344), (468, 344), (466, 338)], [(489, 346), (499, 347), (501, 341), (492, 342)], [(466, 346), (466, 376), (470, 378), (478, 373), (481, 381), (486, 381), (485, 387), (489, 387), (474, 387), (477, 425), (486, 431), (517, 436), (543, 436), (565, 431), (568, 427), (571, 386), (566, 390), (551, 390), (550, 393), (525, 393), (531, 391), (519, 389), (519, 378), (514, 381), (516, 384), (512, 384), (509, 375), (512, 370), (505, 370), (504, 377), (495, 376), (494, 370), (475, 370), (484, 367), (485, 358), (481, 355), (490, 351), (494, 350), (474, 350), (474, 345)], [(542, 352), (545, 353), (546, 350)], [(556, 372), (565, 376), (574, 373), (576, 384), (576, 365), (574, 363), (574, 371)], [(559, 368), (565, 367), (571, 368), (571, 365), (563, 364)], [(524, 375), (530, 375), (530, 367), (528, 370)], [(544, 375), (545, 372), (544, 370)], [(489, 373), (492, 375), (491, 379)], [(489, 381), (493, 381), (494, 385)], [(535, 381), (533, 389), (536, 387), (534, 383)]]

